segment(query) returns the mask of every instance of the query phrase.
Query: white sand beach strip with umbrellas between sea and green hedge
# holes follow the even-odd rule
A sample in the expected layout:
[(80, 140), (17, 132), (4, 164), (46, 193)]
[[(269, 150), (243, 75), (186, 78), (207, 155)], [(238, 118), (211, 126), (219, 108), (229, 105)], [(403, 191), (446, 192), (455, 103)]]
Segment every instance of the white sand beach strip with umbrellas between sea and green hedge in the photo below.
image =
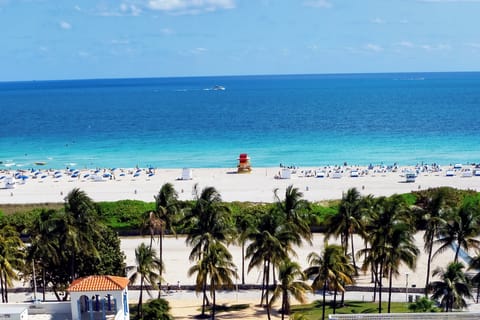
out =
[[(374, 196), (440, 186), (480, 190), (480, 169), (473, 165), (253, 167), (246, 174), (237, 174), (236, 168), (189, 170), (184, 176), (187, 179), (182, 179), (180, 168), (1, 170), (0, 204), (63, 203), (74, 188), (84, 190), (94, 201), (150, 202), (167, 182), (173, 184), (179, 200), (193, 200), (193, 187), (198, 184), (199, 189), (215, 187), (225, 202), (274, 202), (274, 190), (282, 195), (289, 185), (298, 188), (303, 198), (311, 202), (341, 199), (350, 188)], [(406, 182), (407, 172), (416, 174), (415, 182)], [(15, 174), (14, 188), (6, 188), (8, 177)]]

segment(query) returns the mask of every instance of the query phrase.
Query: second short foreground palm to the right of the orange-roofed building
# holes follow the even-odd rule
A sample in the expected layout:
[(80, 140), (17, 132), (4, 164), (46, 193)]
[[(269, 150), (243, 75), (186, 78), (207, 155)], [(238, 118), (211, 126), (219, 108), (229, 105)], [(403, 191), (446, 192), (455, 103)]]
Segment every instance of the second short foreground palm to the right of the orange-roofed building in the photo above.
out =
[[(215, 319), (216, 289), (227, 286), (233, 287), (233, 277), (237, 276), (236, 266), (232, 262), (232, 255), (228, 249), (218, 241), (210, 241), (203, 258), (191, 267), (188, 275), (197, 273), (196, 291), (205, 288), (204, 284), (210, 280), (210, 297), (212, 298), (212, 319)], [(202, 315), (205, 314), (205, 304), (202, 305)]]

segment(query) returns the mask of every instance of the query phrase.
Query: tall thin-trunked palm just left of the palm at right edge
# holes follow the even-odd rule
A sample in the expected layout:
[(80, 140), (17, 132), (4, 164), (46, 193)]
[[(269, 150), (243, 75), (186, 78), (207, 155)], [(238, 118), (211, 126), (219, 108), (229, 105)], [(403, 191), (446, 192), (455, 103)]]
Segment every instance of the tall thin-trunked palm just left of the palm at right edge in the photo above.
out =
[(448, 210), (447, 200), (450, 194), (451, 191), (449, 189), (438, 188), (431, 190), (426, 197), (419, 200), (420, 207), (425, 212), (423, 219), (426, 221), (426, 226), (425, 233), (423, 234), (423, 241), (425, 243), (424, 249), (428, 252), (425, 296), (428, 294), (426, 288), (430, 283), (430, 267), (432, 263), (433, 244), (440, 228), (446, 223), (444, 216)]

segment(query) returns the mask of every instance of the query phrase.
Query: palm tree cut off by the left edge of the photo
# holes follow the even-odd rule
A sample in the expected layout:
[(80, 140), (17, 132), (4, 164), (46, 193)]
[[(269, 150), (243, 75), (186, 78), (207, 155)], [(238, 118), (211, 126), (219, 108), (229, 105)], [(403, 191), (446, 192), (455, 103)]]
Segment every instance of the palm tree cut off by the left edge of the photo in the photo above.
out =
[(0, 290), (2, 302), (8, 303), (8, 287), (17, 280), (16, 270), (23, 266), (23, 242), (12, 226), (0, 229)]

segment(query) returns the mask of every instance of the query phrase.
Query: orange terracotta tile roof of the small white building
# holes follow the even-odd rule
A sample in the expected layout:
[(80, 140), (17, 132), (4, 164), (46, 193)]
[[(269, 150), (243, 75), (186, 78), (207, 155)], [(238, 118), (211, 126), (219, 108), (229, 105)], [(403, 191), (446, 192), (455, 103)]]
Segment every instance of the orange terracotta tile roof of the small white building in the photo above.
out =
[(88, 276), (73, 280), (69, 292), (78, 291), (121, 291), (128, 286), (129, 280), (116, 276)]

